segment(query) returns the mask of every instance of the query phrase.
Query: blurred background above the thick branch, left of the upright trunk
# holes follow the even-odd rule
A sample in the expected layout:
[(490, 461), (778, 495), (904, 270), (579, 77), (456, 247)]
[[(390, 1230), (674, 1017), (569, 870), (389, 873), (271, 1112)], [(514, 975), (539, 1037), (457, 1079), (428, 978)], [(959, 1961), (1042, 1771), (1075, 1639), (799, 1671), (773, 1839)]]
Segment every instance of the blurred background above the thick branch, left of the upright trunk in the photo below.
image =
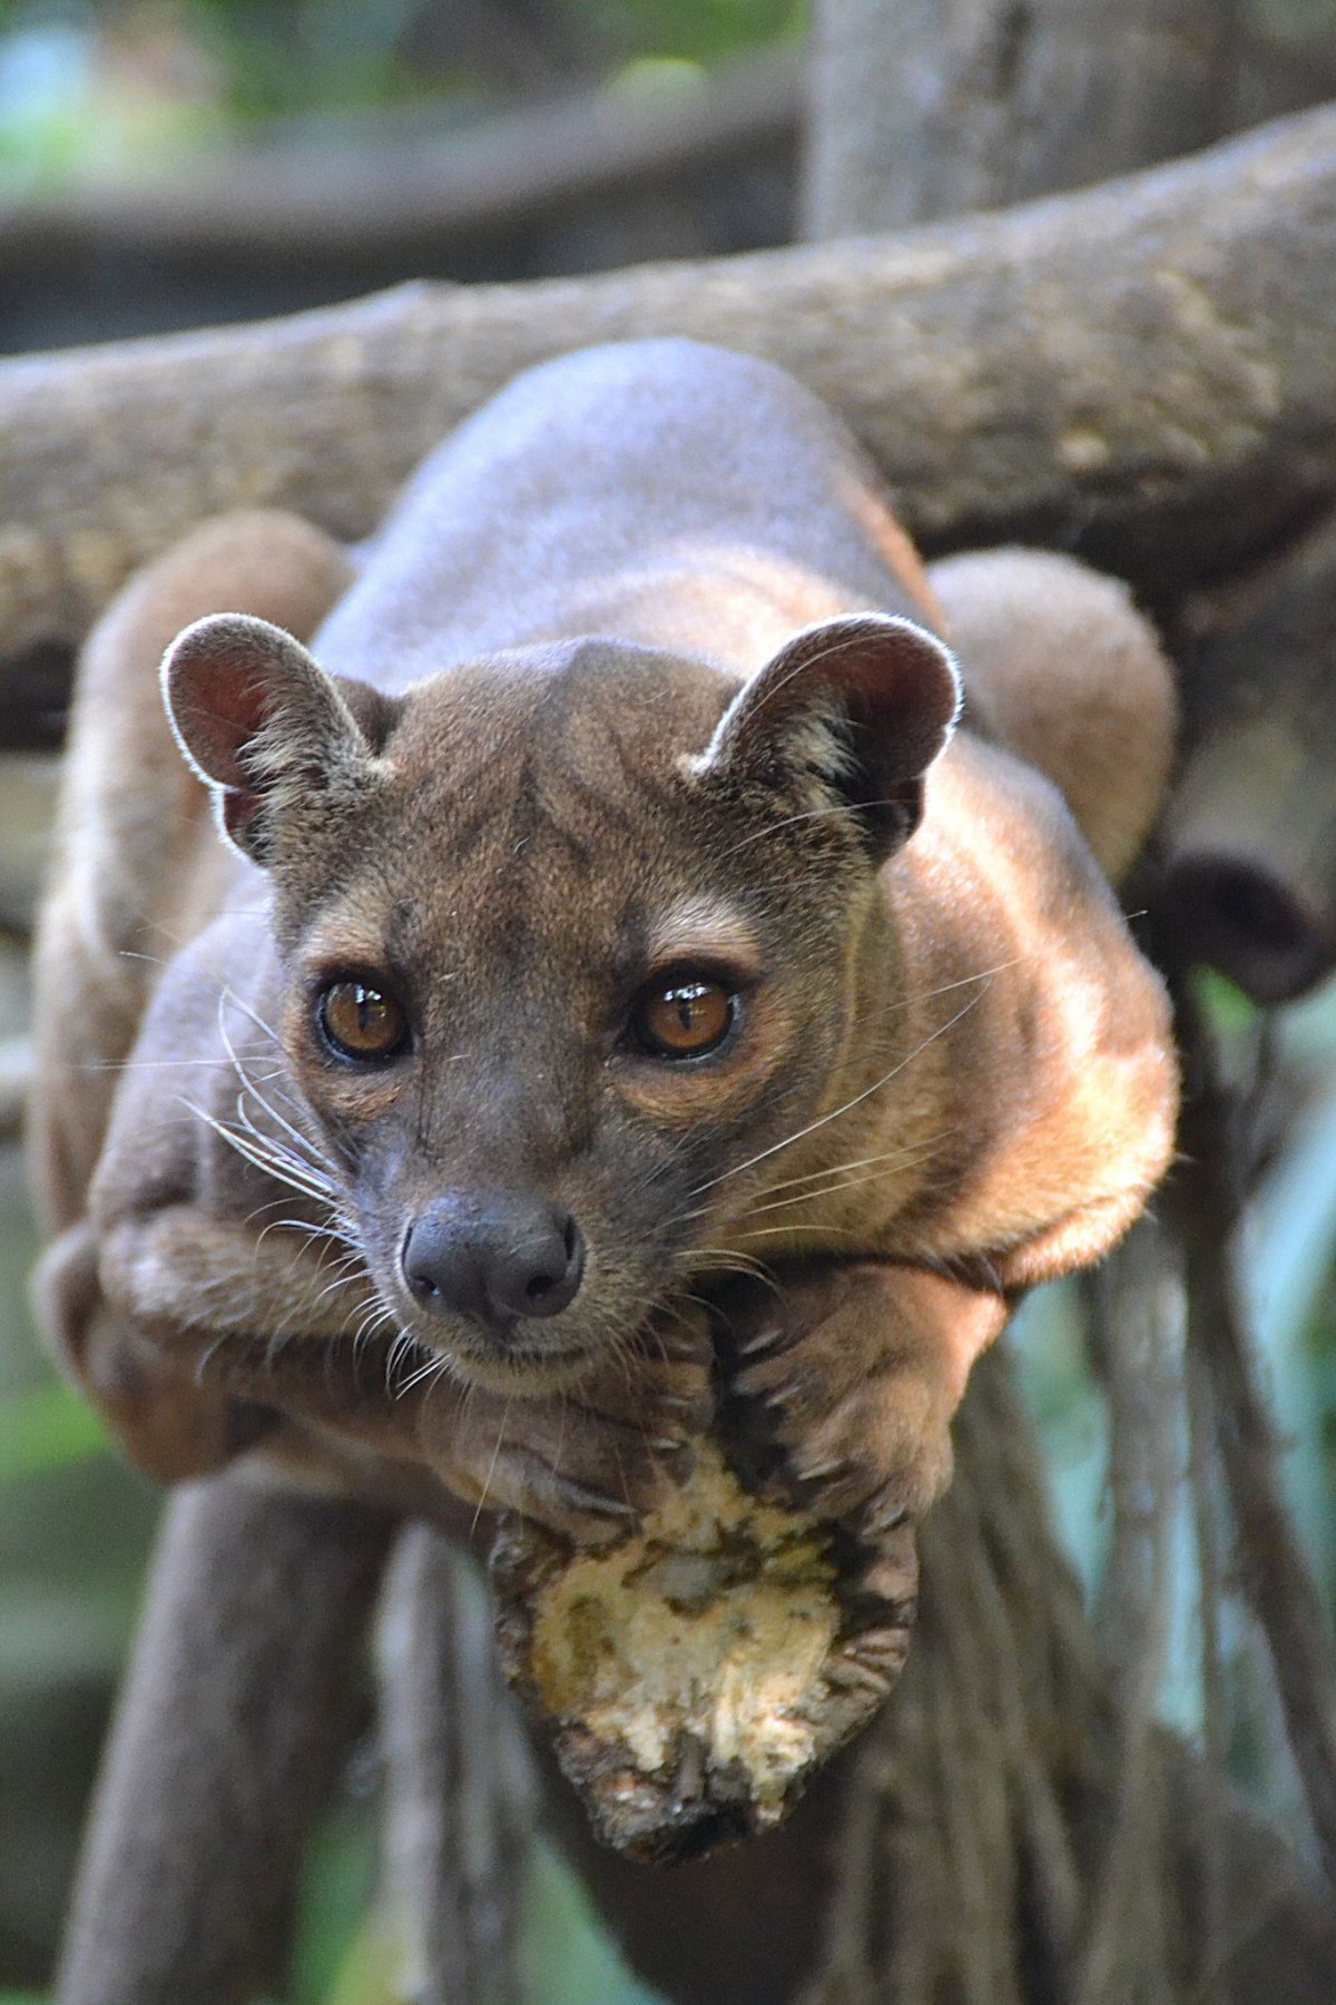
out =
[(0, 347), (782, 243), (794, 0), (0, 6)]

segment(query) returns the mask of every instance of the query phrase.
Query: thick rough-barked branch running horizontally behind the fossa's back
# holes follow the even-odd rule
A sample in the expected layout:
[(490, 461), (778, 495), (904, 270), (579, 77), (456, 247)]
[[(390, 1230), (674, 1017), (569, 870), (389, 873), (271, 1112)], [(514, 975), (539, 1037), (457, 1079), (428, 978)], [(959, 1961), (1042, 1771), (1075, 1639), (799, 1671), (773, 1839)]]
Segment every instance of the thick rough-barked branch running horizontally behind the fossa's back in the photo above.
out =
[[(1202, 217), (1210, 215), (1210, 233)], [(1336, 112), (903, 241), (514, 287), (407, 287), (267, 327), (0, 369), (0, 658), (70, 648), (193, 521), (341, 535), (524, 365), (680, 333), (843, 409), (931, 545), (1079, 545), (1200, 579), (1336, 491)]]

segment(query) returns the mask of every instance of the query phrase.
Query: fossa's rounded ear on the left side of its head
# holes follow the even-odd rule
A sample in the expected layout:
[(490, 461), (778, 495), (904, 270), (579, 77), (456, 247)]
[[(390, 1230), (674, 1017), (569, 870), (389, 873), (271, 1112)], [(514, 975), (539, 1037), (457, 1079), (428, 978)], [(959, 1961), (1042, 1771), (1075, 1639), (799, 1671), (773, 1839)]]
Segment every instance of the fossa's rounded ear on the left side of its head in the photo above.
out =
[(271, 864), (303, 808), (319, 802), (327, 816), (373, 784), (373, 744), (349, 698), (371, 720), (375, 692), (335, 684), (301, 642), (249, 614), (211, 614), (171, 644), (166, 716), (243, 856)]

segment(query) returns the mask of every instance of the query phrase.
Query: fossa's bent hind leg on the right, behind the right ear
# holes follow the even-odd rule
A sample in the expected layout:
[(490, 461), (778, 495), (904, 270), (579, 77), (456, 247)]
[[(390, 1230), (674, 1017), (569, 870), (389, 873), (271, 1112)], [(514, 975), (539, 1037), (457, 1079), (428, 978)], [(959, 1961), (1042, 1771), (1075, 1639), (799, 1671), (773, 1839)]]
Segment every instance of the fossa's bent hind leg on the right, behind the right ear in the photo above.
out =
[(1174, 762), (1178, 696), (1153, 628), (1117, 579), (1047, 549), (945, 557), (929, 581), (965, 670), (967, 722), (1061, 788), (1117, 882)]

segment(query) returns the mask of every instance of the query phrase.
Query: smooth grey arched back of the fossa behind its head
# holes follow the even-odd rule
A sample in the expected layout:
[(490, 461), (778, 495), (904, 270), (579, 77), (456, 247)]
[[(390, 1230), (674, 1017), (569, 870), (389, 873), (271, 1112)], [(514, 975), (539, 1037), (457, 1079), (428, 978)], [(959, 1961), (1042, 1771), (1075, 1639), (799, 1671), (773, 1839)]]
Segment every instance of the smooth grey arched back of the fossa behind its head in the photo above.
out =
[(530, 369), (423, 461), (363, 559), (315, 654), (389, 690), (586, 634), (750, 674), (816, 620), (933, 618), (847, 427), (694, 341)]

